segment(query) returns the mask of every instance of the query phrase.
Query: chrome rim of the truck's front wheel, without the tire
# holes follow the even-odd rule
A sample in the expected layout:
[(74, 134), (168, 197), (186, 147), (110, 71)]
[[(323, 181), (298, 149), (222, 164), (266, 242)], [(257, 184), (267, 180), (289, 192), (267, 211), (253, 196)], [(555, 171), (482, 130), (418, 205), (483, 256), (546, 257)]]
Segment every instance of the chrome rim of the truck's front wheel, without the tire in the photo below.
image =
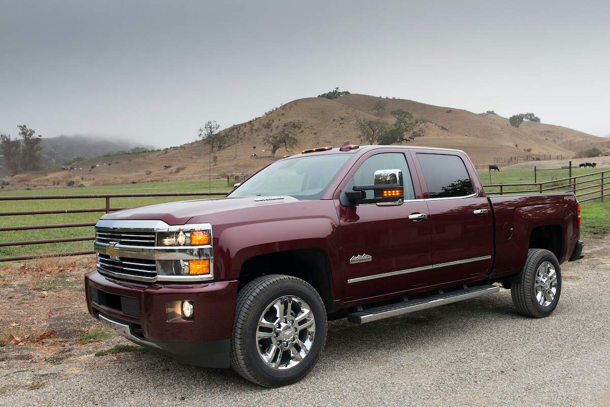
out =
[(256, 343), (262, 361), (273, 369), (290, 369), (306, 358), (314, 344), (315, 318), (299, 297), (271, 302), (259, 318)]

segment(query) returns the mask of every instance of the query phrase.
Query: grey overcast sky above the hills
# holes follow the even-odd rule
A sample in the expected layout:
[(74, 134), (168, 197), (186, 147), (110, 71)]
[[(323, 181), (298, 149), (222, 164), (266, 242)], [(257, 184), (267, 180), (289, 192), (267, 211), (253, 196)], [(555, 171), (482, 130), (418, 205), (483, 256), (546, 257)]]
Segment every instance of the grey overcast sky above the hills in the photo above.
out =
[(610, 2), (0, 0), (0, 132), (157, 147), (340, 87), (610, 133)]

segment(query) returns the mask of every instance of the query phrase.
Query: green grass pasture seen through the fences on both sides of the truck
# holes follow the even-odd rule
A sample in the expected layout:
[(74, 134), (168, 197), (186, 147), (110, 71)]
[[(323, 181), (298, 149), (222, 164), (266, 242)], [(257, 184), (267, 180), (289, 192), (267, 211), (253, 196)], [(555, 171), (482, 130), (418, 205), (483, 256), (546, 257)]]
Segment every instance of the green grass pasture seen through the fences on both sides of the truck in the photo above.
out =
[[(573, 169), (573, 175), (584, 175), (600, 169)], [(479, 177), (484, 184), (489, 183), (489, 172), (479, 172)], [(539, 172), (538, 181), (557, 180), (567, 177), (567, 170), (554, 170)], [(492, 172), (492, 183), (523, 183), (533, 182), (534, 171), (500, 171)], [(610, 181), (610, 180), (609, 180)], [(212, 180), (212, 191), (229, 191), (231, 186), (226, 180)], [(498, 188), (487, 188), (489, 191), (497, 191)], [(0, 191), (0, 196), (9, 195), (72, 195), (72, 194), (121, 194), (121, 193), (163, 193), (163, 192), (206, 192), (208, 182), (206, 181), (176, 181), (159, 183), (137, 183), (125, 185), (101, 185), (82, 188), (58, 188), (58, 189), (32, 189)], [(504, 191), (517, 191), (519, 188), (508, 188)], [(196, 199), (192, 197), (132, 197), (113, 198), (110, 200), (112, 207), (137, 207), (150, 205), (152, 203), (172, 202), (176, 200)], [(606, 233), (610, 232), (610, 197), (609, 202), (584, 202), (582, 205), (583, 233)], [(0, 201), (0, 211), (27, 211), (27, 210), (51, 210), (71, 208), (104, 208), (104, 199), (44, 199), (44, 200), (15, 200)], [(46, 215), (21, 215), (0, 216), (0, 225), (44, 225), (60, 223), (85, 223), (95, 222), (103, 213), (72, 213), (72, 214), (46, 214)], [(35, 239), (54, 239), (79, 236), (93, 236), (93, 227), (60, 228), (43, 230), (25, 230), (21, 232), (0, 232), (0, 242), (24, 241)], [(0, 257), (12, 257), (29, 254), (41, 254), (49, 252), (76, 252), (90, 250), (91, 241), (65, 242), (40, 244), (33, 246), (10, 246), (0, 247)]]

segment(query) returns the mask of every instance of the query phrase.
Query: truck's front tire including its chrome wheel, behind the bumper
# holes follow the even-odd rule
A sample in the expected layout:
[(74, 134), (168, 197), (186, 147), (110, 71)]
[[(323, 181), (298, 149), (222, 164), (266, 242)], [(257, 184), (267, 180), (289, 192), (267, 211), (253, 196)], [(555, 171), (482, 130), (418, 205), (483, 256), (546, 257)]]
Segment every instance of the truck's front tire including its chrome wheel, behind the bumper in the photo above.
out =
[(314, 367), (325, 342), (326, 309), (306, 281), (264, 275), (237, 294), (231, 367), (246, 380), (268, 388), (295, 383)]

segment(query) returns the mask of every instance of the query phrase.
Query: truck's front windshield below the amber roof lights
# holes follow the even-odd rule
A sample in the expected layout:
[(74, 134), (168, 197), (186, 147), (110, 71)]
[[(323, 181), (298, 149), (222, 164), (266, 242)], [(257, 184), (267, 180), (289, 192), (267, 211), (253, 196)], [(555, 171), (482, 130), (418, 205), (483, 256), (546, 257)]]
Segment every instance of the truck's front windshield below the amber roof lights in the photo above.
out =
[(286, 195), (320, 199), (351, 154), (325, 154), (276, 161), (254, 174), (229, 197)]

